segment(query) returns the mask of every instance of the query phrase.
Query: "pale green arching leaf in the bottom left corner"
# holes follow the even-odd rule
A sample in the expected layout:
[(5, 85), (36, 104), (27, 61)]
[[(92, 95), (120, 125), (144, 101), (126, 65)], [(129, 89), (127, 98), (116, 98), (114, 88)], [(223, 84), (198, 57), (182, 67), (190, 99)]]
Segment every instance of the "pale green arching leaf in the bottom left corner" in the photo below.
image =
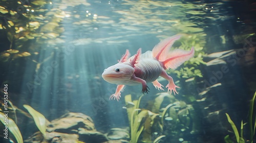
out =
[[(4, 115), (4, 113), (0, 112), (0, 120), (3, 124), (5, 123)], [(23, 143), (22, 134), (20, 133), (17, 125), (11, 118), (8, 118), (8, 130), (13, 134), (18, 143)]]

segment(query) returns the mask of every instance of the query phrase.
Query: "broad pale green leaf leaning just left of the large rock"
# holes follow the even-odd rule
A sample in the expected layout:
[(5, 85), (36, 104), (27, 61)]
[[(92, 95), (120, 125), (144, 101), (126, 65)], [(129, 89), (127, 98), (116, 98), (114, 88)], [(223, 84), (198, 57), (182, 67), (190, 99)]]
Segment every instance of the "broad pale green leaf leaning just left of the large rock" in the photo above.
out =
[(29, 105), (23, 105), (29, 113), (32, 115), (35, 121), (35, 125), (39, 129), (39, 131), (45, 136), (46, 135), (46, 118), (41, 113), (37, 112), (35, 109), (30, 107)]

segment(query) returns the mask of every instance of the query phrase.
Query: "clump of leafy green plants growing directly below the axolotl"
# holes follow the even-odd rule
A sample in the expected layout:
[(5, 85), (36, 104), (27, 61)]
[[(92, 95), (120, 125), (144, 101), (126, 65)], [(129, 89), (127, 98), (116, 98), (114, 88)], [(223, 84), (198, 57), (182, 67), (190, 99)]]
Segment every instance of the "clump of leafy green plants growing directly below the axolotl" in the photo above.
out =
[[(194, 109), (185, 102), (178, 101), (166, 92), (158, 93), (153, 100), (143, 97), (132, 101), (131, 94), (125, 96), (131, 142), (153, 142), (154, 137), (155, 142), (163, 137), (176, 141), (181, 134), (197, 130), (192, 120)], [(142, 98), (143, 103), (146, 100), (146, 107), (140, 105)]]

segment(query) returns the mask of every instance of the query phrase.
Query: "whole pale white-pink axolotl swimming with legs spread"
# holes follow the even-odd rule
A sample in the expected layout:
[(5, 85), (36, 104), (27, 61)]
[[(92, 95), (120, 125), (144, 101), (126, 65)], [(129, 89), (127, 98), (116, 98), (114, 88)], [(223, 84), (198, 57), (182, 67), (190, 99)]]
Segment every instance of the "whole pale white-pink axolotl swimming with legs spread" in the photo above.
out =
[[(185, 61), (189, 60), (194, 56), (194, 47), (190, 51), (184, 51), (176, 49), (170, 51), (170, 47), (173, 43), (178, 40), (181, 36), (175, 35), (162, 40), (158, 43), (152, 51), (147, 51), (141, 54), (141, 49), (138, 50), (137, 54), (130, 57), (129, 50), (119, 60), (119, 63), (106, 68), (102, 74), (102, 78), (112, 84), (117, 84), (116, 92), (110, 96), (110, 99), (117, 99), (121, 97), (121, 91), (124, 85), (138, 85), (142, 84), (143, 94), (148, 92), (146, 83), (152, 82), (153, 85), (161, 90), (161, 85), (157, 78), (159, 76), (168, 80), (169, 83), (167, 92), (172, 90), (176, 91), (179, 88), (175, 85), (172, 77), (168, 76), (165, 69), (176, 69)], [(130, 58), (129, 58), (130, 57)]]

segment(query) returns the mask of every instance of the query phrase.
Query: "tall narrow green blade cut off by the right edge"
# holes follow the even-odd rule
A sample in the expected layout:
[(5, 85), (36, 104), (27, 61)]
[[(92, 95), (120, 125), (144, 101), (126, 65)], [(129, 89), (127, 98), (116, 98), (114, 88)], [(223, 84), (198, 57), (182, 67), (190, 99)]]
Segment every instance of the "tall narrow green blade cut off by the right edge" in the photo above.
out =
[[(255, 124), (256, 124), (256, 115), (254, 117), (254, 121), (253, 121), (253, 109), (254, 109), (254, 101), (255, 101), (255, 97), (256, 97), (256, 92), (254, 93), (254, 96), (252, 97), (251, 101), (250, 101), (250, 107), (249, 107), (249, 128), (250, 128), (250, 142), (253, 142), (253, 137), (255, 135)], [(254, 124), (254, 125), (253, 125)]]

